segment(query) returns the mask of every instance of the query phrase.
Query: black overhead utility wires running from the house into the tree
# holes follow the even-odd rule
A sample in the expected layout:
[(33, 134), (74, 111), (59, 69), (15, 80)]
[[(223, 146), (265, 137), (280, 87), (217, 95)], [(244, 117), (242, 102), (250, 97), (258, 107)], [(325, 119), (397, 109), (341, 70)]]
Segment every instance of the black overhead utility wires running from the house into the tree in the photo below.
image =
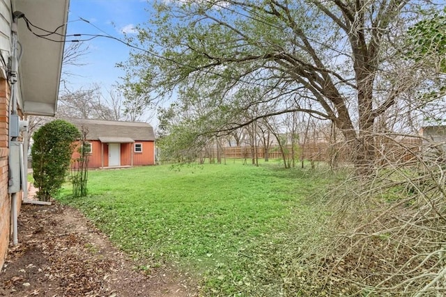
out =
[[(88, 23), (88, 24), (91, 24), (91, 22), (87, 21), (86, 19), (83, 19), (83, 18), (80, 18), (80, 19), (81, 19), (82, 21)], [(26, 27), (29, 29), (29, 31), (31, 31), (31, 33), (33, 33), (33, 35), (36, 35), (38, 38), (43, 38), (43, 39), (45, 39), (45, 40), (49, 40), (49, 41), (52, 41), (52, 42), (66, 42), (66, 40), (53, 40), (53, 39), (51, 39), (51, 38), (47, 38), (47, 36), (48, 36), (47, 34), (39, 35), (39, 34), (33, 32), (33, 30), (31, 29), (31, 26), (40, 29), (38, 26), (33, 25), (33, 24), (29, 21), (29, 19), (26, 19), (25, 22), (26, 22), (26, 24), (28, 24), (28, 22), (29, 22), (29, 26), (26, 26)], [(65, 26), (65, 24), (63, 24), (63, 25), (61, 25), (61, 26)], [(61, 28), (61, 26), (59, 26), (58, 29)], [(91, 26), (94, 26), (96, 29), (102, 31), (101, 29), (99, 29), (97, 26), (95, 26), (95, 25), (93, 25), (93, 24), (91, 24)], [(77, 33), (77, 34), (63, 35), (63, 34), (60, 34), (60, 33), (56, 33), (55, 31), (56, 31), (57, 29), (56, 29), (55, 31), (47, 31), (47, 30), (45, 30), (45, 29), (40, 29), (40, 30), (45, 31), (45, 32), (47, 32), (47, 33), (50, 33), (49, 35), (56, 34), (56, 35), (59, 35), (59, 36), (62, 36), (62, 37), (80, 37), (80, 36), (82, 36), (82, 35), (85, 35), (85, 36), (91, 36), (91, 38), (86, 38), (86, 39), (68, 40), (69, 42), (84, 42), (84, 41), (93, 40), (93, 39), (98, 38), (98, 37), (109, 38), (109, 39), (112, 39), (112, 40), (116, 40), (116, 41), (118, 41), (118, 42), (121, 42), (121, 43), (123, 43), (123, 45), (126, 45), (126, 46), (128, 46), (128, 47), (131, 47), (131, 48), (133, 48), (133, 49), (137, 49), (137, 50), (139, 50), (139, 51), (144, 51), (146, 54), (149, 54), (149, 55), (154, 56), (154, 57), (156, 57), (156, 58), (160, 58), (160, 59), (162, 59), (162, 60), (166, 60), (166, 61), (169, 61), (169, 62), (171, 62), (171, 63), (175, 63), (175, 64), (180, 65), (180, 66), (183, 66), (183, 67), (188, 67), (188, 68), (190, 68), (190, 69), (192, 69), (192, 70), (198, 70), (198, 71), (206, 72), (206, 73), (208, 73), (208, 74), (214, 74), (214, 75), (217, 75), (218, 77), (222, 77), (223, 79), (232, 79), (232, 80), (240, 81), (240, 82), (242, 82), (242, 83), (251, 84), (251, 85), (254, 85), (254, 86), (268, 87), (268, 86), (265, 86), (265, 85), (263, 85), (263, 84), (261, 84), (261, 83), (256, 83), (256, 82), (253, 82), (253, 81), (245, 81), (245, 80), (243, 80), (243, 79), (239, 79), (239, 78), (235, 78), (235, 77), (225, 76), (224, 74), (220, 74), (220, 73), (217, 73), (217, 72), (212, 72), (212, 71), (210, 71), (210, 70), (200, 69), (199, 67), (196, 67), (196, 66), (187, 65), (187, 64), (184, 64), (184, 63), (175, 61), (175, 60), (172, 59), (172, 58), (167, 58), (167, 57), (164, 57), (164, 56), (160, 56), (159, 54), (155, 54), (153, 51), (148, 51), (148, 50), (146, 50), (146, 49), (142, 49), (141, 47), (137, 47), (137, 46), (132, 45), (132, 44), (130, 44), (130, 43), (128, 43), (128, 42), (125, 42), (125, 41), (123, 41), (123, 40), (121, 40), (121, 39), (119, 39), (119, 38), (116, 38), (116, 37), (110, 35), (109, 33), (105, 32), (105, 31), (102, 31), (102, 32), (105, 33), (105, 34), (107, 34), (107, 35), (102, 35), (102, 34), (84, 34), (84, 33)], [(286, 90), (293, 90), (293, 89), (286, 88)]]

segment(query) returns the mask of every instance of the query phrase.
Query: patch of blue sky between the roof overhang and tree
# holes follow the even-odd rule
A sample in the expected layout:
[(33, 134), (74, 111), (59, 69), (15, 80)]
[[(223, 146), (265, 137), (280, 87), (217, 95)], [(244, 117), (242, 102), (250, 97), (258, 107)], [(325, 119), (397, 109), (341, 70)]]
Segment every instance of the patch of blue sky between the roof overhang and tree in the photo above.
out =
[[(149, 7), (148, 1), (144, 0), (70, 0), (67, 34), (103, 35), (103, 32), (95, 28), (97, 26), (102, 31), (123, 39), (123, 31), (131, 34), (133, 26), (148, 20), (146, 9)], [(79, 20), (80, 18), (91, 24)], [(76, 74), (69, 78), (71, 88), (89, 88), (92, 83), (99, 83), (103, 88), (112, 88), (124, 74), (115, 65), (127, 60), (130, 49), (121, 42), (108, 38), (95, 38), (88, 44), (89, 52), (80, 61), (87, 65), (67, 69)]]

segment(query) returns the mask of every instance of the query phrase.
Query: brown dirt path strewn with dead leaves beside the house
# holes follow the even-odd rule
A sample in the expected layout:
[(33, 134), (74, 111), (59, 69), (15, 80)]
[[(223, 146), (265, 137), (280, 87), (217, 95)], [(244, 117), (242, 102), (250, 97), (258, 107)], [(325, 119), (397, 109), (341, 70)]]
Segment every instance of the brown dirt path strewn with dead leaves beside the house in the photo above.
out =
[(19, 244), (0, 273), (0, 296), (197, 296), (171, 268), (141, 273), (76, 209), (24, 204)]

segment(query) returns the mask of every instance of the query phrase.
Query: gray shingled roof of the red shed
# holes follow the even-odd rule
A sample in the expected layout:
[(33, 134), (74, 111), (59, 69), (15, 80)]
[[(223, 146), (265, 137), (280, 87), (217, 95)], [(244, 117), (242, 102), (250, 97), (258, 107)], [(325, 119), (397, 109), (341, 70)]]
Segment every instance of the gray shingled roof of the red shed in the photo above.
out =
[(146, 122), (118, 122), (108, 120), (86, 120), (69, 118), (79, 130), (88, 129), (86, 138), (89, 141), (98, 141), (100, 138), (131, 138), (133, 141), (155, 141), (153, 127)]

